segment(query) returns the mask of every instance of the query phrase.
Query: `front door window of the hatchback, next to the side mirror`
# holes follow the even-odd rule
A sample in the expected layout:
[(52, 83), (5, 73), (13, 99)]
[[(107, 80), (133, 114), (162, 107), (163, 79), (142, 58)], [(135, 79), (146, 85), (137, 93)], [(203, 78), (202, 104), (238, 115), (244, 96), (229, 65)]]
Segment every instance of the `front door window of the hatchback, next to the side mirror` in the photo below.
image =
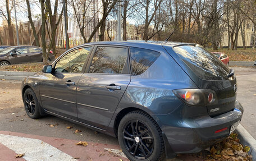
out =
[(80, 48), (67, 53), (56, 63), (55, 72), (82, 72), (85, 59), (87, 58), (91, 48), (92, 47)]

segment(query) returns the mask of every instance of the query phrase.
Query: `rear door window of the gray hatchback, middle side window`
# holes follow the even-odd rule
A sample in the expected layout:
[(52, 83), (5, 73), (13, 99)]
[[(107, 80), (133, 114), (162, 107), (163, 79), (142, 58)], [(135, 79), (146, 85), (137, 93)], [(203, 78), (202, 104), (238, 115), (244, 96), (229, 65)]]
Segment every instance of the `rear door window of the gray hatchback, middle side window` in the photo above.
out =
[(98, 47), (90, 64), (90, 73), (122, 73), (127, 68), (127, 49)]

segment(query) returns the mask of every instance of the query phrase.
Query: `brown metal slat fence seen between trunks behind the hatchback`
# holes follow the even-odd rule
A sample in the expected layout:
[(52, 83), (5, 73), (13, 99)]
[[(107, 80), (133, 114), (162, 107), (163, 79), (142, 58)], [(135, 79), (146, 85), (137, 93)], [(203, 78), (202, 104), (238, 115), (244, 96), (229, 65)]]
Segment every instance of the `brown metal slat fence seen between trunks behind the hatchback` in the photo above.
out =
[[(57, 17), (58, 18), (58, 17)], [(81, 19), (81, 16), (78, 17)], [(89, 36), (91, 35), (92, 31), (94, 30), (94, 26), (99, 23), (100, 19), (92, 18), (92, 17), (85, 17), (85, 29), (84, 34), (86, 40), (88, 40)], [(36, 29), (36, 34), (38, 35), (39, 42), (41, 45), (41, 31), (42, 31), (42, 21), (40, 19), (34, 20), (34, 26)], [(126, 24), (127, 27), (127, 40), (142, 40), (143, 39), (143, 25), (132, 25)], [(17, 45), (16, 40), (16, 30), (15, 25), (12, 25), (13, 29), (13, 38), (10, 38), (8, 35), (8, 26), (0, 26), (0, 38), (1, 38), (1, 45), (10, 45), (10, 39), (14, 40), (15, 45)], [(31, 29), (31, 25), (29, 21), (20, 22), (18, 26), (19, 30), (19, 38), (20, 38), (20, 45), (35, 45), (35, 38), (33, 35), (33, 31)], [(149, 33), (152, 33), (153, 29), (149, 29)], [(46, 43), (49, 46), (51, 42), (51, 26), (49, 23), (49, 19), (47, 19), (46, 24)], [(97, 42), (99, 40), (99, 29), (95, 33), (94, 38), (91, 42)], [(76, 45), (80, 45), (84, 43), (84, 39), (81, 36), (81, 31), (79, 29), (79, 24), (77, 22), (77, 18), (75, 15), (68, 15), (68, 36), (70, 41), (70, 47), (74, 47)], [(65, 30), (64, 30), (64, 19), (61, 17), (60, 24), (57, 26), (56, 30), (56, 47), (63, 47), (65, 48)], [(106, 21), (106, 30), (104, 33), (104, 40), (111, 41), (117, 40), (117, 21), (107, 20)]]

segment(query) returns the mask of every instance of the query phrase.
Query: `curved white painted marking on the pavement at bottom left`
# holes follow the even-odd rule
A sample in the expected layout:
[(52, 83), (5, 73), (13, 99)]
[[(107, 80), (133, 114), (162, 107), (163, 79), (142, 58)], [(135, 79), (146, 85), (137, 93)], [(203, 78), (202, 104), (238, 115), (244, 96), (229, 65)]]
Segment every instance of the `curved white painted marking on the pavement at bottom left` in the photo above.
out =
[(0, 142), (17, 154), (25, 154), (24, 159), (28, 161), (37, 160), (67, 160), (74, 161), (70, 155), (54, 148), (42, 140), (30, 139), (27, 137), (0, 134)]

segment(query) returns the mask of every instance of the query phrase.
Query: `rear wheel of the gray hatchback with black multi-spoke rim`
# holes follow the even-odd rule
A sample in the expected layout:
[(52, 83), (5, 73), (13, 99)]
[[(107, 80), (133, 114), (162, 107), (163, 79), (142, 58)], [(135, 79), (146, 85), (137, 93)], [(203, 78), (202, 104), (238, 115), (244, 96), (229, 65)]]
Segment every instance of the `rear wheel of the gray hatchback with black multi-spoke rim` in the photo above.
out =
[(165, 157), (161, 128), (149, 114), (126, 114), (118, 126), (118, 141), (130, 160), (162, 160)]

